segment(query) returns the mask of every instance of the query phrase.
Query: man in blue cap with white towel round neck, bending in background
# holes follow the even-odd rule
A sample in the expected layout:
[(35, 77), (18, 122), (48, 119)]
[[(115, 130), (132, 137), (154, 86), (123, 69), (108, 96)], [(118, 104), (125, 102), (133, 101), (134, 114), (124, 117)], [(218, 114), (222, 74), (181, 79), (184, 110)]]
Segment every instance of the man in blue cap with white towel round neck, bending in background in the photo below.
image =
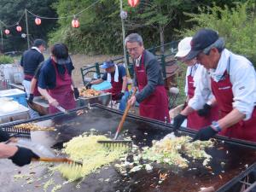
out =
[(111, 93), (113, 101), (119, 101), (120, 111), (125, 111), (126, 102), (129, 97), (125, 67), (122, 65), (117, 66), (113, 61), (105, 61), (101, 67), (106, 71), (102, 79), (91, 81), (87, 87), (90, 87), (91, 84), (100, 84), (107, 80), (111, 83), (112, 88), (104, 91)]

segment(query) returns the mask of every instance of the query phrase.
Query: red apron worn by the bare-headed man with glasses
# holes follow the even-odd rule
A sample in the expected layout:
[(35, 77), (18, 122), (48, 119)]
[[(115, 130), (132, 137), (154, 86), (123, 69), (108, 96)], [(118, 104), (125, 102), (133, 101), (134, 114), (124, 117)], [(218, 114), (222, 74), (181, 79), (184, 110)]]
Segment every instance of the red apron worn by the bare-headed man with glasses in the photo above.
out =
[[(135, 66), (139, 91), (143, 90), (148, 84), (147, 74), (144, 68), (144, 52), (141, 60), (141, 65), (139, 67)], [(140, 102), (139, 111), (143, 117), (170, 122), (168, 97), (165, 86), (157, 85), (154, 92), (144, 99), (143, 102)]]

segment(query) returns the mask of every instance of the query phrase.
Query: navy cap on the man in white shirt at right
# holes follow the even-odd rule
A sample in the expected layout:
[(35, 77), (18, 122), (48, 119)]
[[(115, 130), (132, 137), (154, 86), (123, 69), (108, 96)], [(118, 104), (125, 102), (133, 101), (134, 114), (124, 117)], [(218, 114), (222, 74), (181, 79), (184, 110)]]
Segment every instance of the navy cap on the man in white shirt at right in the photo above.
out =
[(215, 43), (217, 40), (218, 32), (213, 31), (212, 29), (201, 29), (199, 32), (196, 32), (190, 42), (191, 50), (185, 60), (189, 61), (194, 59), (199, 53), (201, 53), (201, 51)]

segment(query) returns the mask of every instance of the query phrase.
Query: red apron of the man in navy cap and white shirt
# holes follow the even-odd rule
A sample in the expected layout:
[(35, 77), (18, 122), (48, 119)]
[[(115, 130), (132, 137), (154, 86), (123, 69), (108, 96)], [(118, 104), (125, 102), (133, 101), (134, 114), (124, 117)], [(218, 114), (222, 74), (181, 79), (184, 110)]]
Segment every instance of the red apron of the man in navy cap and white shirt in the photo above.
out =
[[(230, 66), (230, 62), (228, 64)], [(224, 118), (228, 113), (233, 110), (233, 92), (232, 84), (230, 82), (230, 75), (227, 71), (224, 73), (224, 79), (218, 82), (215, 82), (211, 79), (212, 82), (212, 92), (218, 101), (218, 106), (220, 109), (220, 118)], [(228, 89), (219, 89), (219, 88), (228, 88)], [(254, 108), (251, 119), (246, 121), (239, 121), (237, 124), (230, 126), (229, 128), (221, 131), (219, 134), (226, 137), (233, 137), (238, 139), (243, 139), (247, 141), (256, 142), (256, 108)]]

